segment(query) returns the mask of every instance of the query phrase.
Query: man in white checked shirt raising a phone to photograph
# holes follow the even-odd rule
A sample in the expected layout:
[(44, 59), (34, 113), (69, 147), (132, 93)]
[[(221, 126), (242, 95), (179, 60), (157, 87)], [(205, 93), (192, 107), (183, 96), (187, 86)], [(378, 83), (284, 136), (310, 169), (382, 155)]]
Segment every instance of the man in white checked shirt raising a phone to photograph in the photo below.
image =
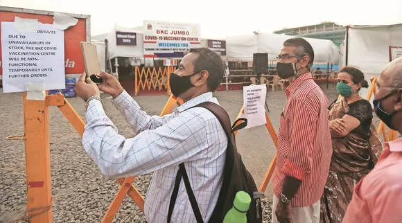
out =
[[(198, 208), (207, 222), (220, 193), (227, 136), (216, 116), (201, 107), (211, 101), (222, 81), (225, 66), (208, 48), (191, 48), (178, 69), (171, 73), (174, 96), (184, 105), (166, 116), (148, 116), (121, 84), (101, 73), (98, 86), (82, 75), (76, 93), (87, 102), (87, 125), (82, 145), (105, 177), (129, 177), (154, 172), (146, 194), (144, 213), (148, 222), (167, 222), (168, 207), (179, 164), (184, 163)], [(105, 114), (99, 90), (110, 93), (113, 104), (134, 129), (136, 136), (125, 139)], [(189, 109), (191, 108), (191, 109)], [(184, 181), (173, 209), (171, 222), (195, 222)]]

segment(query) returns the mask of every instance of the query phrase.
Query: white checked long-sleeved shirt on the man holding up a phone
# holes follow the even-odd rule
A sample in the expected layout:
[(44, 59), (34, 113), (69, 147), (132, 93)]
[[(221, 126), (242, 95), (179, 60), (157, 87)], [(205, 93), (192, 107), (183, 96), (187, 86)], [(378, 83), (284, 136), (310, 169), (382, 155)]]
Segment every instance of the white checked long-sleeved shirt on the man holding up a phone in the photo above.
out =
[[(209, 92), (189, 100), (172, 114), (148, 116), (123, 91), (112, 102), (137, 134), (131, 139), (117, 132), (100, 101), (89, 102), (82, 145), (98, 164), (100, 172), (110, 178), (154, 172), (144, 208), (150, 223), (167, 221), (178, 165), (183, 162), (204, 222), (209, 220), (216, 206), (227, 136), (218, 118), (207, 109), (197, 107), (184, 111), (205, 101), (218, 104)], [(196, 222), (183, 180), (171, 222)]]

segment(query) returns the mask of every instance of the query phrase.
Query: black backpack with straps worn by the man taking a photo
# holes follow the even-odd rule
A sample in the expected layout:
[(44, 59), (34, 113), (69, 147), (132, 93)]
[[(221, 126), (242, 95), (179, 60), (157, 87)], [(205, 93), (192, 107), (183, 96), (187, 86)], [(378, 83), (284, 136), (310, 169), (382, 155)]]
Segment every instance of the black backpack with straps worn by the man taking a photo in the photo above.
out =
[[(254, 179), (250, 172), (245, 168), (243, 161), (241, 160), (241, 155), (238, 153), (236, 148), (236, 140), (234, 132), (243, 129), (247, 126), (247, 119), (239, 118), (235, 121), (234, 125), (230, 127), (230, 118), (225, 109), (216, 105), (213, 102), (202, 102), (194, 107), (203, 107), (211, 111), (213, 115), (218, 118), (220, 125), (222, 125), (225, 130), (228, 139), (226, 150), (226, 161), (223, 170), (223, 181), (222, 188), (219, 193), (218, 202), (209, 222), (219, 223), (223, 222), (223, 218), (230, 208), (233, 206), (233, 201), (236, 193), (240, 190), (245, 191), (252, 198), (252, 203), (247, 211), (247, 223), (261, 223), (263, 222), (262, 207), (260, 197), (263, 196), (262, 192), (259, 192)], [(193, 108), (193, 107), (191, 107)], [(191, 109), (189, 108), (189, 109)], [(243, 121), (243, 123), (236, 126), (238, 121)], [(180, 181), (182, 178), (184, 180), (184, 185), (186, 186), (187, 195), (189, 196), (191, 207), (195, 215), (195, 219), (198, 223), (203, 222), (200, 209), (198, 208), (197, 201), (195, 199), (193, 190), (191, 189), (189, 176), (187, 175), (184, 163), (180, 163), (179, 170), (177, 171), (175, 187), (173, 188), (173, 193), (171, 196), (171, 202), (168, 211), (168, 223), (171, 222), (171, 217), (173, 213), (173, 208), (175, 206), (177, 194), (179, 191)]]

